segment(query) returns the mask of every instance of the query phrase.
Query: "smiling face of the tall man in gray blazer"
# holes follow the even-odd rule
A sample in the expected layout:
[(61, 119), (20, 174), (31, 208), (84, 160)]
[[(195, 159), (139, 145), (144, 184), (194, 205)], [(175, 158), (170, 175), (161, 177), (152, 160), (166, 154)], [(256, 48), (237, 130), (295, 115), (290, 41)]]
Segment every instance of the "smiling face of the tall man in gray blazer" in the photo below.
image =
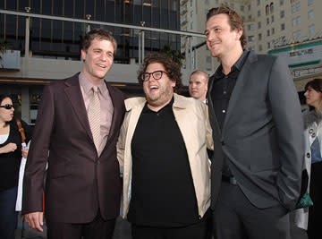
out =
[(242, 30), (232, 30), (228, 21), (228, 15), (220, 13), (210, 17), (206, 23), (207, 46), (210, 54), (219, 59), (242, 48)]

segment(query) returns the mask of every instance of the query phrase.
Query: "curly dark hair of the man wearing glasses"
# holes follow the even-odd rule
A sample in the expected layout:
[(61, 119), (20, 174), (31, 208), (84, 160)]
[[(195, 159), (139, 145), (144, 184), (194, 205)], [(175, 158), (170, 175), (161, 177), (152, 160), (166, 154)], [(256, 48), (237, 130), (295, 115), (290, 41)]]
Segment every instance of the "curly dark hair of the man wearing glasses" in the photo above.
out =
[(181, 66), (180, 64), (174, 62), (171, 56), (165, 55), (163, 53), (152, 53), (144, 58), (144, 62), (140, 65), (138, 71), (138, 81), (140, 82), (140, 84), (143, 85), (141, 74), (145, 73), (148, 65), (153, 63), (163, 64), (167, 76), (171, 81), (175, 81), (174, 92), (180, 93), (180, 90), (182, 89)]

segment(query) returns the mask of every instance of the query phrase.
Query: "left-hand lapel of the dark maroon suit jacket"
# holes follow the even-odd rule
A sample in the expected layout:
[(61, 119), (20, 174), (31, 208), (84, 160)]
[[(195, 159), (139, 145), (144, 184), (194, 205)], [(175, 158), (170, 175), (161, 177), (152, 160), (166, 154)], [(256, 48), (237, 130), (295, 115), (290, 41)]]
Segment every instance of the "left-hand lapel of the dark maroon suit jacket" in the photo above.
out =
[(80, 124), (83, 126), (91, 141), (93, 141), (93, 136), (90, 131), (89, 119), (86, 112), (86, 107), (84, 99), (82, 98), (80, 91), (80, 81), (78, 78), (79, 74), (74, 75), (72, 78), (68, 79), (65, 84), (65, 93), (67, 98), (69, 98), (73, 113), (78, 117)]

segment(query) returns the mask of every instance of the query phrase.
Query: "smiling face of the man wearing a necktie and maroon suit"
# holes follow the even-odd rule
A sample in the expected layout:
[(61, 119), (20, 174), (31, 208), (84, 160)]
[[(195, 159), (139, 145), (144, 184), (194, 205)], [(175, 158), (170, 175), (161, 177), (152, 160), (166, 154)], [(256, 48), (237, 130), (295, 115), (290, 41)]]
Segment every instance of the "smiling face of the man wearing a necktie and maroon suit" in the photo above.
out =
[(114, 47), (111, 41), (94, 38), (87, 49), (81, 49), (84, 60), (83, 73), (93, 84), (104, 81), (106, 73), (113, 64)]

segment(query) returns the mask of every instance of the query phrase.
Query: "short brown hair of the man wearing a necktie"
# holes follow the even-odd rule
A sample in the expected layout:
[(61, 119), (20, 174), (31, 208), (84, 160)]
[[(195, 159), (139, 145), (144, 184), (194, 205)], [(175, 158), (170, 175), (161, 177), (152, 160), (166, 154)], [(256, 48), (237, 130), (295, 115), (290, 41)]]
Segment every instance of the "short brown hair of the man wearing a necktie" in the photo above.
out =
[(92, 29), (90, 30), (84, 37), (84, 39), (81, 42), (81, 48), (87, 52), (88, 48), (90, 47), (90, 44), (93, 39), (105, 39), (109, 40), (113, 47), (114, 47), (114, 55), (116, 53), (117, 49), (117, 43), (115, 38), (112, 36), (111, 32), (105, 29)]

